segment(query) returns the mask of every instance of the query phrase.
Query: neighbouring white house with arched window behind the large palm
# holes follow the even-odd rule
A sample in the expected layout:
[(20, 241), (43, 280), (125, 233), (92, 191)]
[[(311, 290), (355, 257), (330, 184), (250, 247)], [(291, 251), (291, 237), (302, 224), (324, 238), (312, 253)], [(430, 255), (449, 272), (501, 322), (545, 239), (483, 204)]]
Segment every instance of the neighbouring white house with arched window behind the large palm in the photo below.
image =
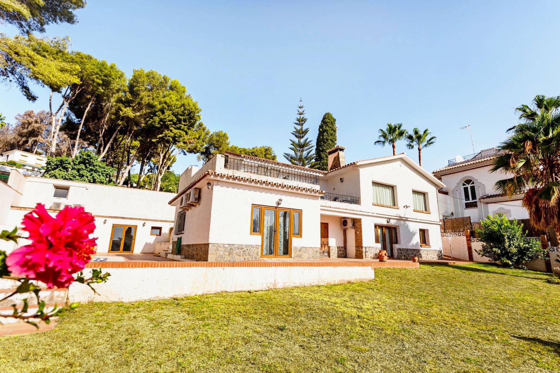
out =
[(499, 180), (511, 177), (503, 172), (491, 172), (493, 159), (500, 149), (490, 148), (478, 153), (458, 155), (433, 175), (446, 186), (438, 193), (440, 218), (469, 217), (480, 221), (488, 215), (502, 213), (510, 219), (529, 218), (521, 206), (523, 194), (508, 197), (496, 190)]

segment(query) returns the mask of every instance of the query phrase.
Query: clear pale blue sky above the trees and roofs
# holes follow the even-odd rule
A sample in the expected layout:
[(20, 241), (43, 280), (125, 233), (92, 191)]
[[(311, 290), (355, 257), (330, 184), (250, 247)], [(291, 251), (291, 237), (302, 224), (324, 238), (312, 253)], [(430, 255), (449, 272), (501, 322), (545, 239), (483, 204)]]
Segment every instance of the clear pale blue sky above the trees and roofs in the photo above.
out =
[[(204, 124), (231, 143), (270, 145), (283, 160), (299, 98), (310, 138), (327, 111), (347, 162), (388, 155), (375, 147), (387, 122), (430, 128), (423, 152), (432, 171), (455, 155), (493, 147), (516, 121), (515, 107), (560, 94), (560, 2), (188, 2), (95, 1), (77, 25), (48, 36), (115, 63), (128, 76), (155, 69), (179, 79)], [(0, 25), (0, 32), (14, 30)], [(0, 112), (48, 108), (0, 86)], [(416, 150), (397, 145), (417, 159)], [(174, 171), (197, 163), (181, 156)]]

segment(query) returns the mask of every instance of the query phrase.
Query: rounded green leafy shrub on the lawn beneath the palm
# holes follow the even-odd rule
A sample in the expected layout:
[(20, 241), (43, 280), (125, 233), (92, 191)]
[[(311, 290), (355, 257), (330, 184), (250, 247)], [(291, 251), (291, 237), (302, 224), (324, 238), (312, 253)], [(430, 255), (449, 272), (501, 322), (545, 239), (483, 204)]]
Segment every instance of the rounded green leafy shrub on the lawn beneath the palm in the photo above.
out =
[(494, 214), (480, 222), (477, 235), (482, 241), (479, 255), (504, 267), (523, 267), (523, 264), (544, 256), (537, 240), (525, 239), (527, 232), (517, 220), (508, 220), (503, 214)]

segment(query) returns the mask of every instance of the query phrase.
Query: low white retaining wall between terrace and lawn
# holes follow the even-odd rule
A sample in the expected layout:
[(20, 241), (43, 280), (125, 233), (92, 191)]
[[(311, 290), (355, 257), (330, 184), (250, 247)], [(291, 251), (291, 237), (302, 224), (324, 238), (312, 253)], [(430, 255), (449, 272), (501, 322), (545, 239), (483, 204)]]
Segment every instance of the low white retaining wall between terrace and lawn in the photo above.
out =
[[(371, 266), (104, 268), (104, 272), (111, 276), (105, 284), (95, 285), (100, 295), (82, 284), (72, 284), (69, 301), (136, 301), (222, 291), (342, 284), (375, 277)], [(91, 269), (86, 269), (86, 277), (89, 273)]]

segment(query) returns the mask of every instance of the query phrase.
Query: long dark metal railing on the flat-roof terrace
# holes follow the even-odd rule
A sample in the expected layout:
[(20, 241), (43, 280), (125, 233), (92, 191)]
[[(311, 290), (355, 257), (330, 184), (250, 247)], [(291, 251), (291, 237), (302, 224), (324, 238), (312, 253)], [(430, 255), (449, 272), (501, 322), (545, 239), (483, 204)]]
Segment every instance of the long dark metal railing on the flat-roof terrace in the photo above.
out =
[(254, 173), (260, 176), (291, 180), (301, 183), (319, 185), (319, 176), (297, 171), (291, 168), (269, 166), (268, 164), (250, 162), (249, 160), (231, 158), (226, 155), (225, 168), (236, 171)]

